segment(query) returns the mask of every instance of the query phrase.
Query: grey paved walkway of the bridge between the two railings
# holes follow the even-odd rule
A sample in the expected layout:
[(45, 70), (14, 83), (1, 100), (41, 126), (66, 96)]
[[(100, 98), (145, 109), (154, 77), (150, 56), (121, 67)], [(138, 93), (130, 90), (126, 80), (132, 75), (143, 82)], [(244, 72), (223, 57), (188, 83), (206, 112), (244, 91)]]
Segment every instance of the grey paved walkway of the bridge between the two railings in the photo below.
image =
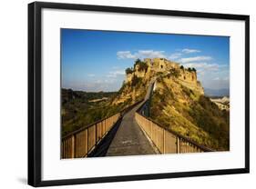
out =
[(135, 112), (141, 104), (124, 115), (106, 156), (156, 154), (135, 120)]

